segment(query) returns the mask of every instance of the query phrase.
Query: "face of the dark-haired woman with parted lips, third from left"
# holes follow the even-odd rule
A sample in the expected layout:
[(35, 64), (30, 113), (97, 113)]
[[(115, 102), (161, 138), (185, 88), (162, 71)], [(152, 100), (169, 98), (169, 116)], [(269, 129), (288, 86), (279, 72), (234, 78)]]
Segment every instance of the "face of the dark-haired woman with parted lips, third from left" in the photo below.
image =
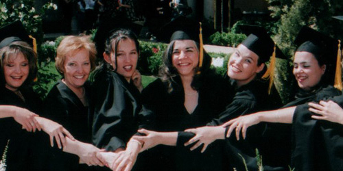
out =
[[(115, 47), (115, 42), (113, 42), (113, 47)], [(130, 82), (137, 67), (138, 55), (139, 53), (137, 52), (136, 44), (133, 40), (127, 38), (119, 41), (117, 46), (117, 57), (115, 57), (115, 53), (113, 52), (111, 52), (110, 55), (104, 53), (104, 60), (112, 65), (113, 69), (116, 69), (117, 62), (116, 72)]]

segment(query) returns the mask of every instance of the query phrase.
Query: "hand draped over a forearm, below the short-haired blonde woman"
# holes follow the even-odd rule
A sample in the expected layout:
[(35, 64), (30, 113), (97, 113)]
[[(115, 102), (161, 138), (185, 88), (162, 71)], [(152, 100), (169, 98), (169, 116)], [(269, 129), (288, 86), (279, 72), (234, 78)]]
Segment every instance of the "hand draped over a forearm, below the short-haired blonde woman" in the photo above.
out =
[(54, 146), (54, 137), (58, 145), (58, 148), (62, 148), (62, 145), (64, 146), (66, 144), (64, 135), (69, 137), (71, 140), (75, 140), (73, 135), (71, 135), (71, 133), (69, 133), (67, 129), (64, 129), (64, 127), (62, 127), (62, 125), (58, 124), (57, 122), (40, 117), (37, 117), (36, 119), (38, 120), (38, 123), (42, 126), (43, 131), (49, 134), (51, 146)]

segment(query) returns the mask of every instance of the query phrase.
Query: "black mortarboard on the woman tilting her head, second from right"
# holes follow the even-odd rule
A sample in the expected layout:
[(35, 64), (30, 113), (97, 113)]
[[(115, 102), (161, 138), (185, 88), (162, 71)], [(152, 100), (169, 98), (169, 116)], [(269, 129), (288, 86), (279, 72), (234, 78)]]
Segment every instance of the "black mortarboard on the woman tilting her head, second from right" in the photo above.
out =
[[(272, 53), (274, 52), (275, 43), (268, 35), (267, 31), (263, 27), (256, 25), (238, 25), (242, 34), (246, 34), (248, 37), (241, 42), (250, 51), (253, 51), (259, 55), (261, 62), (268, 62)], [(276, 57), (285, 59), (282, 51), (276, 46)]]

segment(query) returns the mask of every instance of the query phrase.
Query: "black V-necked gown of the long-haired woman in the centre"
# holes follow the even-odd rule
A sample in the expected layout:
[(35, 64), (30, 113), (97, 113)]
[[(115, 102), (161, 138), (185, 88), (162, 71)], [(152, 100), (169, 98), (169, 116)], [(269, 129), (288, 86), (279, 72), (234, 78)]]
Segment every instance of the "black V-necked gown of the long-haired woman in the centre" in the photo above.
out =
[[(192, 114), (185, 109), (185, 92), (180, 77), (171, 82), (173, 90), (168, 92), (168, 85), (156, 79), (142, 92), (143, 113), (156, 116), (155, 131), (182, 131), (202, 127), (217, 118), (218, 114), (230, 102), (232, 89), (227, 81), (218, 75), (202, 75), (198, 90), (198, 106)], [(218, 170), (222, 169), (218, 150), (190, 151), (183, 144), (176, 147), (156, 146), (150, 151), (150, 170)]]

